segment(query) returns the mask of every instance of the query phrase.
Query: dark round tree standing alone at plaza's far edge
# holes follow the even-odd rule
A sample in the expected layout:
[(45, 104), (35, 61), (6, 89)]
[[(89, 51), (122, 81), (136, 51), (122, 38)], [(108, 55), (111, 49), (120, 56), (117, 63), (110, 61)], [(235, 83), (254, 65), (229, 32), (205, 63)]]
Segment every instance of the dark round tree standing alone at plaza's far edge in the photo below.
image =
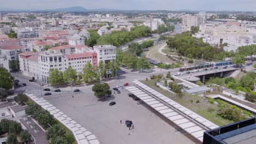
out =
[(92, 87), (92, 91), (94, 91), (94, 95), (97, 98), (102, 99), (109, 90), (108, 83), (95, 83), (95, 85)]

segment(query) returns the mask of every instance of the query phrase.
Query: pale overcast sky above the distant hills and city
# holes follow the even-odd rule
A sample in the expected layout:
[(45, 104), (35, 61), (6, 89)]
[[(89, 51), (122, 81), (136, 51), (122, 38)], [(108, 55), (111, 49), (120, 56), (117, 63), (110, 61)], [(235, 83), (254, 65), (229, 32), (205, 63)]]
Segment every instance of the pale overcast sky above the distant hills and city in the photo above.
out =
[(256, 11), (256, 0), (0, 0), (0, 9), (237, 10)]

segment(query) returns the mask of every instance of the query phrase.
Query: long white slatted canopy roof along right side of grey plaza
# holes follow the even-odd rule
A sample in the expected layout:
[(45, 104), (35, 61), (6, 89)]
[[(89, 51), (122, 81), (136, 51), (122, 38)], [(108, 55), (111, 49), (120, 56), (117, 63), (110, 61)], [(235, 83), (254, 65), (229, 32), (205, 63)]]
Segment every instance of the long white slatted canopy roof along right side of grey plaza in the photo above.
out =
[(128, 91), (135, 94), (136, 97), (170, 119), (170, 121), (187, 131), (197, 140), (202, 142), (204, 131), (218, 128), (218, 125), (213, 124), (143, 83), (137, 80), (133, 82), (135, 86), (126, 87)]

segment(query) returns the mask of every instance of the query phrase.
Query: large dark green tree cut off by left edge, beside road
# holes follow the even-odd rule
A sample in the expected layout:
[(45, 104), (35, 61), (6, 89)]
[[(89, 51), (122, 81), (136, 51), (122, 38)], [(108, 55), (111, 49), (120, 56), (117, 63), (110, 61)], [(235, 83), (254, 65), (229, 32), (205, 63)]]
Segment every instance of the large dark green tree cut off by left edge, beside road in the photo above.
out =
[(5, 68), (0, 68), (0, 88), (9, 90), (13, 87), (13, 76)]

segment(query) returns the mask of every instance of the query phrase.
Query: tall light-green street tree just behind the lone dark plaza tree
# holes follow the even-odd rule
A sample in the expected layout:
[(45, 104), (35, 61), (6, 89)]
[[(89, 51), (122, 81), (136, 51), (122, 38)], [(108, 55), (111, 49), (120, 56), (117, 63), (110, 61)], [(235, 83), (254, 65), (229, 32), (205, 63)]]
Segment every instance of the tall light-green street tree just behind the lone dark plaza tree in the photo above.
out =
[(84, 65), (83, 71), (84, 71), (84, 82), (85, 83), (93, 82), (97, 74), (94, 71), (90, 62), (87, 62)]

